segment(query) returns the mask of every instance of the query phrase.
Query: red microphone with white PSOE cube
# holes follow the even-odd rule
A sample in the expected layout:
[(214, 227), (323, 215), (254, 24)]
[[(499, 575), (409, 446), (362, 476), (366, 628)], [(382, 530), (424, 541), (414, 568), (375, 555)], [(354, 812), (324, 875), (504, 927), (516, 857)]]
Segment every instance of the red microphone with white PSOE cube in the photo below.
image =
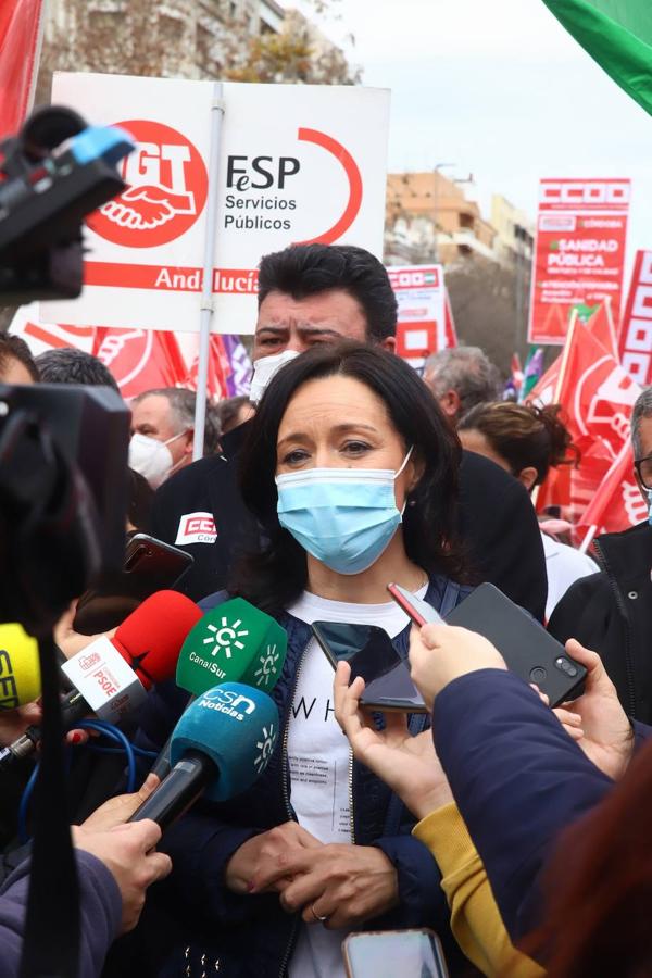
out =
[[(89, 713), (118, 723), (137, 709), (152, 684), (172, 678), (179, 647), (200, 617), (185, 594), (158, 591), (125, 618), (113, 639), (102, 636), (67, 660), (61, 668), (73, 689), (61, 703), (64, 726)], [(0, 751), (0, 770), (33, 754), (40, 738), (40, 727), (28, 727)]]

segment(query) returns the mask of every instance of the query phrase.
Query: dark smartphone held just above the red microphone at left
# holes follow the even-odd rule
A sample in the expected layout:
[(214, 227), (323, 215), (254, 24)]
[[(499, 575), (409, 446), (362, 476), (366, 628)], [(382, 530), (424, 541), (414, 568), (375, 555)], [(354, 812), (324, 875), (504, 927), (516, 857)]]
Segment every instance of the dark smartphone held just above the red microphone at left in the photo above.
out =
[(192, 562), (192, 555), (178, 547), (135, 534), (127, 543), (117, 579), (79, 598), (73, 628), (82, 635), (115, 628), (150, 594), (172, 588)]

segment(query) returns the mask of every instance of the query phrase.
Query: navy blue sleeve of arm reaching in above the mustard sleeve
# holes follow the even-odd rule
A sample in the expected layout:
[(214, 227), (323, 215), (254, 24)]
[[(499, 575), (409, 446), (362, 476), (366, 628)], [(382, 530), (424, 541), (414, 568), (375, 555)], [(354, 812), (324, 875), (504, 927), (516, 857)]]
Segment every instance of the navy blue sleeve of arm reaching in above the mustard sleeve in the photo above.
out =
[[(652, 728), (634, 723), (636, 743)], [(541, 923), (541, 878), (562, 831), (613, 781), (513, 673), (481, 669), (435, 701), (432, 735), (513, 941)]]

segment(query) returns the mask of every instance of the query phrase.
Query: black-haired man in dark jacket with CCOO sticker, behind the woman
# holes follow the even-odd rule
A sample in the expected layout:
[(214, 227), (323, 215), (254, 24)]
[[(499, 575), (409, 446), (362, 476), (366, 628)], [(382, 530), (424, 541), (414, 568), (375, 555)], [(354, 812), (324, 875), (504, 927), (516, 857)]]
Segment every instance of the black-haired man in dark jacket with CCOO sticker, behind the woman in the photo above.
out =
[[(303, 352), (340, 337), (392, 351), (397, 303), (385, 267), (352, 246), (293, 246), (263, 258), (253, 359)], [(255, 375), (254, 375), (255, 376)], [(180, 588), (199, 600), (228, 582), (234, 560), (255, 546), (256, 528), (237, 486), (247, 424), (156, 492), (150, 530), (192, 554)], [(543, 620), (548, 584), (541, 535), (519, 482), (473, 452), (461, 467), (460, 536), (479, 580), (489, 580)]]

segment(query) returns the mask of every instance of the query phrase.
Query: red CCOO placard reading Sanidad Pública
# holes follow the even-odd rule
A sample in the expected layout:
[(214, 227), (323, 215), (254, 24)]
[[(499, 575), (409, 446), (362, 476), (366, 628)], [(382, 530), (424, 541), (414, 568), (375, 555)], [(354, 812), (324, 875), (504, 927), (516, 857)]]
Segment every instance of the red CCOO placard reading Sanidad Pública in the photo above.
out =
[(630, 181), (541, 180), (528, 342), (562, 344), (573, 306), (618, 317)]

